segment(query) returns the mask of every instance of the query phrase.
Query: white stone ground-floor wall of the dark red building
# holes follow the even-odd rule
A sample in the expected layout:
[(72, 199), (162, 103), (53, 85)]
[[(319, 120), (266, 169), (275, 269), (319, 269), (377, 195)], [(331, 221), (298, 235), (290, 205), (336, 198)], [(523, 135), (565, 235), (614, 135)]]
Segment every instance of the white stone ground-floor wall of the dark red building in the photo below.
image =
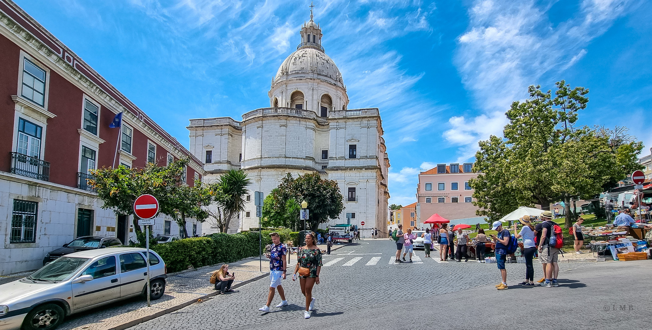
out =
[[(0, 174), (0, 242), (3, 244), (0, 275), (38, 269), (46, 253), (74, 240), (78, 208), (94, 210), (91, 234), (117, 237), (116, 232), (107, 231), (107, 227), (117, 227), (117, 215), (112, 210), (102, 209), (102, 200), (96, 199), (95, 194), (57, 184), (30, 184), (22, 176)], [(35, 243), (10, 243), (14, 199), (38, 202)], [(163, 233), (164, 220), (171, 219), (166, 216), (156, 219), (155, 236)], [(178, 234), (179, 227), (171, 222), (171, 234)], [(127, 240), (136, 241), (131, 223), (129, 219)], [(190, 235), (193, 223), (194, 219), (187, 219), (186, 229)], [(96, 227), (100, 230), (96, 231)], [(198, 223), (198, 233), (201, 233), (201, 223)]]

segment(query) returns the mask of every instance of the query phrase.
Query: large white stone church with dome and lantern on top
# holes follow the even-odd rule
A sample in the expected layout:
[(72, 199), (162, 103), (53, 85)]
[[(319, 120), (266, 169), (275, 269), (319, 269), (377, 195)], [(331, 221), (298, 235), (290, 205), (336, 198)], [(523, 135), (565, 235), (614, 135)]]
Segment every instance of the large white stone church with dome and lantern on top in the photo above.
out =
[[(321, 36), (311, 10), (301, 27), (301, 44), (274, 76), (269, 107), (245, 113), (242, 121), (191, 119), (190, 151), (205, 161), (206, 181), (243, 169), (252, 179), (252, 195), (258, 190), (266, 197), (288, 172), (295, 178), (319, 172), (338, 182), (344, 195), (345, 210), (331, 223), (347, 223), (351, 213), (352, 225), (385, 228), (389, 158), (379, 111), (347, 108), (346, 85)], [(252, 227), (258, 227), (253, 197), (229, 232)]]

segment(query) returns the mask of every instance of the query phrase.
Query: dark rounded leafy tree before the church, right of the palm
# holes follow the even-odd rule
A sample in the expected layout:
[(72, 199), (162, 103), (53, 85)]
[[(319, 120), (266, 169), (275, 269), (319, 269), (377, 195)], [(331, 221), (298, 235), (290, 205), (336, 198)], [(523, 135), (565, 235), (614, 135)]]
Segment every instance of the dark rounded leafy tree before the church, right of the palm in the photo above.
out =
[(299, 205), (303, 200), (310, 210), (310, 219), (306, 221), (306, 227), (310, 230), (317, 230), (319, 224), (327, 223), (329, 219), (337, 219), (344, 210), (344, 196), (334, 180), (322, 179), (316, 172), (298, 178), (288, 173), (265, 198), (263, 217), (267, 217), (271, 224), (296, 227), (292, 219), (298, 218)]

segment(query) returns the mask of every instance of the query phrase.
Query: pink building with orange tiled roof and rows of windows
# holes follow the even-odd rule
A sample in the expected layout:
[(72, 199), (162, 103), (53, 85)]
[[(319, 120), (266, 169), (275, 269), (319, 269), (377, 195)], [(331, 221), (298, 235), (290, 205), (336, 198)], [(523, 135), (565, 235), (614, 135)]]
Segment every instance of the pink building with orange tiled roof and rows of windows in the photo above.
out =
[(417, 227), (434, 213), (449, 220), (477, 217), (478, 208), (471, 203), (473, 189), (469, 186), (469, 179), (477, 174), (471, 169), (473, 163), (437, 164), (419, 174)]

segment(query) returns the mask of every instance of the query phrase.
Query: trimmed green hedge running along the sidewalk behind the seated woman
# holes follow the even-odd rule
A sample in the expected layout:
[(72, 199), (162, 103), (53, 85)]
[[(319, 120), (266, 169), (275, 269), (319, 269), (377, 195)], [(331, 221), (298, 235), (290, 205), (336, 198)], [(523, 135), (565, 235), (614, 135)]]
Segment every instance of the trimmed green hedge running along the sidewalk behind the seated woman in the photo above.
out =
[[(299, 233), (289, 229), (262, 230), (263, 249), (271, 244), (271, 232), (278, 232), (283, 243), (297, 246)], [(168, 266), (168, 271), (182, 271), (201, 266), (209, 266), (221, 262), (235, 262), (250, 256), (258, 256), (258, 231), (240, 232), (237, 234), (211, 234), (199, 238), (185, 238), (154, 245), (151, 249), (158, 253)]]

